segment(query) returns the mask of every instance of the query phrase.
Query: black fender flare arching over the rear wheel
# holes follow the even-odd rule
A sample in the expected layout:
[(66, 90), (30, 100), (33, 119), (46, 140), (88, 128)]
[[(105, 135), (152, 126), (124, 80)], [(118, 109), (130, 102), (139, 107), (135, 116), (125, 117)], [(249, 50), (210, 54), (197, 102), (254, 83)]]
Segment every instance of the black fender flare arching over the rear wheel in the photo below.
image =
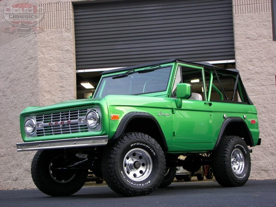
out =
[(244, 121), (242, 118), (240, 118), (240, 117), (228, 117), (228, 118), (226, 118), (226, 119), (224, 120), (224, 122), (223, 122), (223, 124), (222, 124), (222, 126), (221, 126), (221, 128), (220, 128), (220, 133), (219, 133), (219, 136), (218, 136), (218, 138), (217, 138), (217, 142), (216, 142), (215, 147), (214, 147), (213, 150), (215, 150), (215, 149), (217, 148), (217, 145), (219, 144), (220, 139), (222, 138), (222, 136), (223, 136), (223, 134), (224, 134), (224, 132), (225, 132), (225, 129), (226, 129), (227, 126), (228, 126), (230, 123), (232, 123), (232, 122), (240, 122), (240, 123), (243, 123), (243, 124), (246, 126), (248, 138), (249, 138), (249, 141), (250, 141), (250, 146), (253, 145), (253, 143), (254, 143), (254, 142), (253, 142), (253, 137), (252, 137), (252, 134), (251, 134), (250, 130), (248, 129), (248, 127), (247, 127), (245, 121)]

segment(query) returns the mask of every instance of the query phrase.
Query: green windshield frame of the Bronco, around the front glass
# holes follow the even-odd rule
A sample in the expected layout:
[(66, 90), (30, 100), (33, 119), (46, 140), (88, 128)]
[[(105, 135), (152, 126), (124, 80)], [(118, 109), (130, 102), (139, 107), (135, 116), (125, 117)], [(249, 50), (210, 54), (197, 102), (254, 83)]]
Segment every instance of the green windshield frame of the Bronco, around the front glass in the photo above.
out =
[[(165, 90), (161, 90), (161, 91), (154, 91), (154, 92), (147, 92), (147, 93), (139, 93), (139, 94), (126, 94), (126, 95), (146, 95), (146, 94), (156, 94), (156, 95), (160, 95), (160, 92), (163, 93), (163, 95), (166, 93), (167, 94), (167, 91), (169, 90), (170, 88), (170, 80), (171, 80), (171, 75), (173, 73), (173, 68), (174, 68), (174, 63), (167, 63), (167, 64), (162, 64), (162, 65), (159, 65), (159, 67), (153, 67), (153, 68), (150, 68), (150, 69), (153, 69), (154, 71), (155, 70), (159, 70), (161, 68), (166, 68), (166, 67), (169, 67), (169, 70), (168, 70), (168, 79), (167, 79), (167, 83), (166, 83), (166, 89)], [(138, 73), (139, 71), (143, 71), (143, 70), (146, 70), (146, 69), (149, 69), (149, 67), (141, 67), (141, 68), (133, 68), (133, 71), (131, 71), (130, 73), (128, 73), (127, 75), (131, 75), (133, 73)], [(128, 70), (126, 70), (128, 71)], [(110, 77), (116, 77), (116, 76), (119, 76), (119, 75), (122, 75), (122, 74), (125, 74), (126, 71), (120, 71), (120, 72), (115, 72), (113, 73), (112, 75), (111, 74), (108, 74), (108, 75), (102, 75), (101, 79), (100, 79), (100, 82), (95, 90), (95, 93), (93, 94), (93, 98), (96, 98), (96, 94), (98, 94), (98, 92), (100, 92), (100, 86), (103, 84), (103, 80), (104, 78), (110, 78)], [(150, 73), (150, 72), (149, 72)], [(122, 78), (123, 79), (123, 78)], [(116, 94), (114, 94), (116, 95)], [(104, 98), (104, 97), (102, 97)]]

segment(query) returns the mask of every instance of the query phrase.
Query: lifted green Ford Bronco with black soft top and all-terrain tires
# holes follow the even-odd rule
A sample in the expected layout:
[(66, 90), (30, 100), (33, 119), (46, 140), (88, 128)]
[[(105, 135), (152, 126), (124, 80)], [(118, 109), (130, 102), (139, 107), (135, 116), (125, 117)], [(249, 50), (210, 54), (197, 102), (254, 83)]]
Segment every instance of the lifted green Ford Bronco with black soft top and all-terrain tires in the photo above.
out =
[(76, 193), (91, 171), (118, 194), (145, 195), (176, 166), (211, 165), (220, 185), (242, 186), (247, 146), (261, 143), (239, 71), (178, 59), (105, 71), (93, 98), (28, 107), (20, 125), (17, 151), (38, 150), (32, 178), (51, 196)]

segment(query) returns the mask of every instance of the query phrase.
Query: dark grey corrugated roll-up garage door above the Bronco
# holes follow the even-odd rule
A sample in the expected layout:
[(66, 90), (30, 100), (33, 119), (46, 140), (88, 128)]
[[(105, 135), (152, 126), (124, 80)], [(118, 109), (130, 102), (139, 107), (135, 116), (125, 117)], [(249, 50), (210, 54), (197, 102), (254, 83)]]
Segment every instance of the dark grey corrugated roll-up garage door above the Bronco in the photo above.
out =
[(235, 59), (232, 0), (75, 4), (76, 66)]

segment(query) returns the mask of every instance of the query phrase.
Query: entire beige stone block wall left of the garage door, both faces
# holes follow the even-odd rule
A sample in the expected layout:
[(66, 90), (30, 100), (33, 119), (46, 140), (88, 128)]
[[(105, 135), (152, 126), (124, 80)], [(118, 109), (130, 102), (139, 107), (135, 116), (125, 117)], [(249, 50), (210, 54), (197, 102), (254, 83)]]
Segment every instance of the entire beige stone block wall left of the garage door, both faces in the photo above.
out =
[[(3, 6), (19, 2), (0, 2), (0, 29), (9, 25)], [(35, 152), (16, 150), (16, 143), (22, 142), (21, 111), (76, 98), (72, 4), (39, 3), (44, 19), (35, 34), (18, 36), (0, 30), (0, 190), (36, 187), (30, 173)]]

